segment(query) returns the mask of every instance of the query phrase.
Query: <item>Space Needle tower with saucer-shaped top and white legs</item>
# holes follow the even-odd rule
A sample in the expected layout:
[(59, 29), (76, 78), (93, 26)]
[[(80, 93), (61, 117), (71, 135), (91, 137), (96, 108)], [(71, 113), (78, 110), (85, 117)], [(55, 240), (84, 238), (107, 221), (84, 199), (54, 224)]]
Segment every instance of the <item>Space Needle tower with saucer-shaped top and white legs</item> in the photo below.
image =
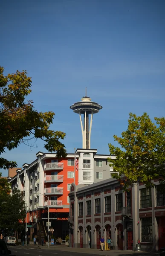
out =
[[(87, 87), (86, 87), (86, 93), (85, 93), (85, 96), (82, 97), (81, 102), (76, 102), (75, 104), (70, 106), (70, 108), (73, 110), (73, 112), (79, 114), (80, 116), (81, 131), (82, 131), (82, 147), (90, 149), (90, 135), (91, 135), (91, 129), (92, 129), (93, 114), (98, 113), (99, 110), (102, 108), (102, 106), (96, 102), (91, 101), (91, 98), (87, 96)], [(89, 115), (91, 115), (90, 123), (89, 123)], [(82, 122), (82, 116), (84, 117), (83, 122)]]

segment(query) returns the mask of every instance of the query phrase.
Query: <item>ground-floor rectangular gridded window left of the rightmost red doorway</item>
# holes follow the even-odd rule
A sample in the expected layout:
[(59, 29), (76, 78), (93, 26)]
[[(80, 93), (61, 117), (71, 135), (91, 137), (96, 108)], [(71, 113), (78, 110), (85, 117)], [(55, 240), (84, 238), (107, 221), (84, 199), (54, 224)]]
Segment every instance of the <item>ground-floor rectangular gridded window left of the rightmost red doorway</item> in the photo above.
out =
[(152, 218), (141, 218), (141, 241), (152, 243)]

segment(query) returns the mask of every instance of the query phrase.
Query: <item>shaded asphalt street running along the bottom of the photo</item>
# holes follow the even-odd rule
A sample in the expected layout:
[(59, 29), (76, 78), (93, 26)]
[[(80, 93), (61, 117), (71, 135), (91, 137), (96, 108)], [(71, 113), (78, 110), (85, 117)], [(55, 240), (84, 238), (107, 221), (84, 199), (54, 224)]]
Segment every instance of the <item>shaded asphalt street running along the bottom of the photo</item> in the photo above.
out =
[[(151, 252), (133, 252), (133, 251), (101, 251), (96, 249), (85, 249), (85, 248), (70, 248), (70, 247), (39, 247), (35, 246), (8, 246), (8, 249), (12, 251), (15, 256), (93, 256), (104, 255), (104, 256), (158, 256), (159, 253)], [(84, 255), (85, 254), (85, 255)]]

